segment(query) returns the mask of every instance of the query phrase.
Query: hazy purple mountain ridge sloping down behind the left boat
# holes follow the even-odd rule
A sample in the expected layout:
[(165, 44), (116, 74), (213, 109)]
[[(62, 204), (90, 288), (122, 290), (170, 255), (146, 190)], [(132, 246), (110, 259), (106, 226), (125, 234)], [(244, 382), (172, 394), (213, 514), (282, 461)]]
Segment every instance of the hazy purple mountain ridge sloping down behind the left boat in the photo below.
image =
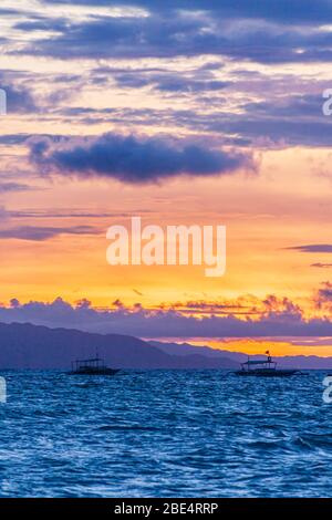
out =
[(227, 357), (211, 358), (197, 349), (190, 355), (168, 354), (147, 342), (120, 334), (93, 334), (32, 324), (0, 323), (0, 370), (69, 370), (96, 350), (115, 368), (237, 368)]

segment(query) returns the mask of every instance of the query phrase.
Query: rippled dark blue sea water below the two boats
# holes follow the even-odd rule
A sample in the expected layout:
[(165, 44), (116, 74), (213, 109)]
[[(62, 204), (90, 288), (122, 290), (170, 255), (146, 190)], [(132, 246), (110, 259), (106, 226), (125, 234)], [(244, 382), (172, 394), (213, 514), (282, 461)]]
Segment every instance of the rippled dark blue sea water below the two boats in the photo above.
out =
[(1, 497), (330, 497), (322, 373), (8, 373)]

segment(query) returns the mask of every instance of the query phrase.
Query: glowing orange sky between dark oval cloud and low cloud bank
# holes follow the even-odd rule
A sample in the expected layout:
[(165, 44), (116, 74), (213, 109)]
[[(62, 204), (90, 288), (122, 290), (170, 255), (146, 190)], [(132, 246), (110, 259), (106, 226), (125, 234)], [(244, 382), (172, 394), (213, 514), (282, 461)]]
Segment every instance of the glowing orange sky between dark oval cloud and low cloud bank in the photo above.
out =
[[(143, 293), (141, 300), (147, 306), (181, 301), (186, 295), (215, 300), (246, 293), (261, 298), (268, 293), (288, 295), (303, 304), (322, 281), (321, 270), (310, 267), (317, 254), (284, 248), (325, 242), (329, 236), (330, 181), (312, 175), (308, 158), (314, 154), (300, 149), (267, 153), (259, 175), (238, 174), (191, 180), (189, 185), (185, 179), (142, 188), (115, 181), (50, 184), (38, 179), (39, 190), (7, 195), (6, 209), (32, 208), (43, 215), (23, 219), (24, 225), (91, 226), (95, 235), (63, 235), (43, 242), (2, 240), (1, 299), (7, 301), (15, 294), (28, 301), (33, 293), (44, 301), (63, 295), (74, 302), (84, 297), (95, 305), (107, 305), (121, 295), (126, 304), (133, 304), (137, 300), (134, 288)], [(321, 150), (322, 160), (328, 152)], [(72, 212), (84, 208), (87, 216), (54, 218), (54, 212), (66, 214), (69, 208)], [(95, 212), (110, 217), (89, 217)], [(226, 275), (208, 279), (203, 268), (190, 266), (108, 266), (106, 229), (113, 223), (129, 227), (129, 215), (162, 227), (226, 225)], [(22, 218), (10, 220), (12, 225), (22, 223)], [(321, 256), (320, 261), (328, 262), (329, 257)]]

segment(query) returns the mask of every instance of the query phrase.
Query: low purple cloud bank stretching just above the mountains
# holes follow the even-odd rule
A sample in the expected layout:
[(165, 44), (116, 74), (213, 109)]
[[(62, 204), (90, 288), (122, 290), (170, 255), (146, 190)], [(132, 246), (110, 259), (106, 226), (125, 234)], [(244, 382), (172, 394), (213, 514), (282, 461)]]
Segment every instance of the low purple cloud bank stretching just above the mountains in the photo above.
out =
[[(321, 298), (331, 299), (331, 287), (322, 288)], [(328, 292), (326, 292), (328, 291)], [(87, 332), (129, 334), (138, 337), (266, 337), (266, 336), (332, 336), (329, 318), (307, 320), (301, 310), (284, 299), (280, 309), (276, 297), (266, 300), (266, 312), (257, 320), (232, 314), (203, 319), (184, 315), (175, 310), (146, 310), (141, 304), (126, 308), (120, 300), (112, 309), (94, 309), (87, 300), (71, 305), (62, 299), (52, 303), (12, 300), (11, 306), (0, 306), (0, 321), (30, 322), (50, 327), (80, 329)]]

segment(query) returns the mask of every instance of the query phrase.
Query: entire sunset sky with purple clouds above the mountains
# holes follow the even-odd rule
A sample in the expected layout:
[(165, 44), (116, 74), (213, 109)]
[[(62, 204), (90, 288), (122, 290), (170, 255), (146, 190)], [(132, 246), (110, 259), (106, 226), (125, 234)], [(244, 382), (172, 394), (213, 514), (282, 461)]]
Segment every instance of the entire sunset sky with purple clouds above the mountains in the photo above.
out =
[[(331, 0), (2, 0), (0, 24), (1, 321), (332, 355)], [(132, 216), (225, 225), (226, 274), (108, 266)]]

